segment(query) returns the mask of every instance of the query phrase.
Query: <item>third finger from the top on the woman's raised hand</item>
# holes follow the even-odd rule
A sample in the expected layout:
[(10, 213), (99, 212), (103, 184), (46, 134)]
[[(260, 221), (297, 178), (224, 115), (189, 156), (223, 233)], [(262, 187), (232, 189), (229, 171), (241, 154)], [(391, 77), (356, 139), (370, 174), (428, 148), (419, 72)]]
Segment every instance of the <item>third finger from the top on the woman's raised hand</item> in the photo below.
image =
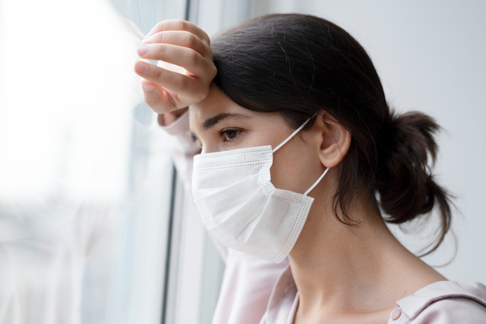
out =
[(139, 56), (148, 60), (161, 60), (185, 68), (195, 75), (204, 75), (208, 62), (198, 52), (172, 44), (143, 44), (137, 49)]

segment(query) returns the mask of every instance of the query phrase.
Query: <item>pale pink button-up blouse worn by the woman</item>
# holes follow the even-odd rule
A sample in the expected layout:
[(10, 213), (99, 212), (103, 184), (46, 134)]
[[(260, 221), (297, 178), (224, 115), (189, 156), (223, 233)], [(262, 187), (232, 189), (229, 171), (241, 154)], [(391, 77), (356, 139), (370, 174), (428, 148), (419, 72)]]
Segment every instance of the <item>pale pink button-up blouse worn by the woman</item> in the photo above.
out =
[[(170, 150), (191, 197), (192, 158), (198, 151), (189, 133), (189, 112), (170, 125)], [(292, 324), (298, 291), (288, 258), (280, 263), (227, 248), (212, 238), (226, 263), (212, 324)], [(486, 324), (486, 286), (439, 281), (397, 301), (388, 324)]]

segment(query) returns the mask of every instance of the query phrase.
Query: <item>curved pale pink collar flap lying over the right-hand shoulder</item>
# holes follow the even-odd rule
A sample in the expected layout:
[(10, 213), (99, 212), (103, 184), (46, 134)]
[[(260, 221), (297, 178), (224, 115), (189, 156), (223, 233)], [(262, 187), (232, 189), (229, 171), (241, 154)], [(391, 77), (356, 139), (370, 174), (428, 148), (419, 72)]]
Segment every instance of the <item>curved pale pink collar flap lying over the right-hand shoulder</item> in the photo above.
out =
[(480, 282), (437, 281), (403, 297), (397, 305), (410, 319), (415, 319), (430, 304), (449, 297), (466, 297), (486, 306), (486, 286)]

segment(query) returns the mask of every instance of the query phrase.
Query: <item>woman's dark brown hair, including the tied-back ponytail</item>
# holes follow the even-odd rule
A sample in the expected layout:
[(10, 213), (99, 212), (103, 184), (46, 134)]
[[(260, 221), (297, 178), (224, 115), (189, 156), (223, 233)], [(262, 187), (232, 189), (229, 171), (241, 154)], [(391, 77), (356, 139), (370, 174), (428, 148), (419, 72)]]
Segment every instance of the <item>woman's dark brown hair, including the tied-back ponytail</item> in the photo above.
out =
[(218, 69), (214, 82), (237, 104), (280, 112), (295, 129), (325, 111), (351, 133), (333, 197), (341, 222), (359, 224), (348, 217), (357, 192), (372, 199), (379, 194), (383, 219), (396, 224), (437, 204), (441, 227), (426, 254), (438, 247), (451, 224), (453, 197), (431, 174), (440, 126), (421, 112), (398, 115), (390, 109), (371, 59), (350, 34), (320, 17), (271, 14), (216, 34), (211, 49)]

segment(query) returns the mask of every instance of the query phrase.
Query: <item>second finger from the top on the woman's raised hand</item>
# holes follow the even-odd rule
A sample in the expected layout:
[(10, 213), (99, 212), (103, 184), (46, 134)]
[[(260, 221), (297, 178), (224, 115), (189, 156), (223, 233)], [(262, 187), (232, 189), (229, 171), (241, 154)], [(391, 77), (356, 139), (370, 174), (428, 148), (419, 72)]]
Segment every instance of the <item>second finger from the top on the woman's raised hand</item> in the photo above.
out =
[(206, 55), (208, 49), (196, 35), (186, 31), (165, 31), (156, 33), (142, 40), (142, 44), (164, 43), (190, 48), (201, 55)]

